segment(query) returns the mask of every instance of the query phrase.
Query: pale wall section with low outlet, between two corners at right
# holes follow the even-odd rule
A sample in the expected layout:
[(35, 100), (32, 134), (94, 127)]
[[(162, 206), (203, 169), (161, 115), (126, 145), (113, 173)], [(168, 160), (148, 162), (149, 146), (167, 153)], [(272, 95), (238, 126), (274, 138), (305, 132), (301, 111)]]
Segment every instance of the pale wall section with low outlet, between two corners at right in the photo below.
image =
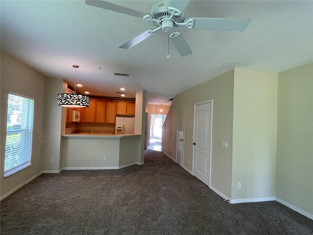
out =
[(236, 68), (232, 202), (247, 198), (274, 199), (276, 119), (277, 73)]

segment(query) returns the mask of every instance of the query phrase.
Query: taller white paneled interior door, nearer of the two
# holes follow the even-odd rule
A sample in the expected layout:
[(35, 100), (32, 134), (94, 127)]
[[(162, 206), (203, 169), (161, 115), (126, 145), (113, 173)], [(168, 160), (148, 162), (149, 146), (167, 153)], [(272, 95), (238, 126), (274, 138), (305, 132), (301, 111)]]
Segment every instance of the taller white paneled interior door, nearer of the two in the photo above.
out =
[(193, 174), (207, 186), (210, 182), (212, 101), (195, 104)]

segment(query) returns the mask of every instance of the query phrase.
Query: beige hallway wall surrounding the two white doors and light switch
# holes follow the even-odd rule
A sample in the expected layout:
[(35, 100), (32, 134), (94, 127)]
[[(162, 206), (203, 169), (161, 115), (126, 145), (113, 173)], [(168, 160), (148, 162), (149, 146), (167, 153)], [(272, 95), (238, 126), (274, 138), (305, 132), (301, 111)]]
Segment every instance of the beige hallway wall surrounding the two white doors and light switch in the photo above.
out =
[[(194, 104), (213, 100), (211, 187), (231, 196), (234, 70), (174, 97), (163, 125), (162, 151), (176, 159), (177, 130), (184, 130), (183, 166), (192, 171)], [(227, 141), (227, 148), (221, 142)]]

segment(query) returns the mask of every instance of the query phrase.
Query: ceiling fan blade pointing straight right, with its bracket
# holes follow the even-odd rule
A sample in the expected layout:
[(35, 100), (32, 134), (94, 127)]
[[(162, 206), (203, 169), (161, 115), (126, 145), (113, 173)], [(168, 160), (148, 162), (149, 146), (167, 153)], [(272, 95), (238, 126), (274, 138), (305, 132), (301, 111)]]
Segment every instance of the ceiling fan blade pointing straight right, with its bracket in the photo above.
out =
[[(230, 19), (230, 18), (192, 18), (194, 26), (192, 28), (211, 29), (211, 30), (228, 30), (244, 31), (250, 19)], [(188, 21), (190, 19), (187, 19)]]

